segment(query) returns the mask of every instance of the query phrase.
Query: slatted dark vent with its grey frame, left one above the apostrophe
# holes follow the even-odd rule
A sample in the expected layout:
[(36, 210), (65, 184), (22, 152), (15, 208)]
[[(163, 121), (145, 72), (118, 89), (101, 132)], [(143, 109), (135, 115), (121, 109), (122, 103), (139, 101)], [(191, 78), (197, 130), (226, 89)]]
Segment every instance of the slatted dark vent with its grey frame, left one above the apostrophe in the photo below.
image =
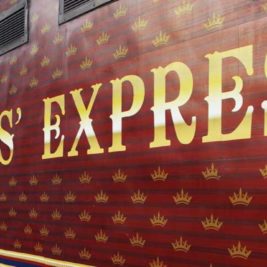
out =
[(28, 42), (28, 0), (0, 13), (0, 55)]

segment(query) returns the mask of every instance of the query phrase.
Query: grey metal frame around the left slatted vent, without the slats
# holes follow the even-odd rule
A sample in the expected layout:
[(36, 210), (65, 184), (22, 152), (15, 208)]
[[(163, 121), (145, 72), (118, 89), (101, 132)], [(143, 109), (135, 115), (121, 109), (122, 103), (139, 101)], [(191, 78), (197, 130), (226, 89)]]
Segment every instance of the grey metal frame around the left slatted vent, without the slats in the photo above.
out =
[(0, 56), (29, 42), (29, 5), (29, 0), (21, 0), (18, 3), (14, 4), (11, 8), (0, 13), (1, 22), (20, 9), (24, 8), (24, 35), (13, 41), (12, 43), (4, 45), (2, 48), (0, 47)]

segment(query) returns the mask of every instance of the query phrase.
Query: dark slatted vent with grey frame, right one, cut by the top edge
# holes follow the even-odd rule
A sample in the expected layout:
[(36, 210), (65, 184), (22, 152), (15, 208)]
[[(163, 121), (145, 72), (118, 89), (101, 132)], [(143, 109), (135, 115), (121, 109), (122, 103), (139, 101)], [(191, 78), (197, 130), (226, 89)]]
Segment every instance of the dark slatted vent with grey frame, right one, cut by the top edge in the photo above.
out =
[(59, 24), (114, 0), (59, 0)]

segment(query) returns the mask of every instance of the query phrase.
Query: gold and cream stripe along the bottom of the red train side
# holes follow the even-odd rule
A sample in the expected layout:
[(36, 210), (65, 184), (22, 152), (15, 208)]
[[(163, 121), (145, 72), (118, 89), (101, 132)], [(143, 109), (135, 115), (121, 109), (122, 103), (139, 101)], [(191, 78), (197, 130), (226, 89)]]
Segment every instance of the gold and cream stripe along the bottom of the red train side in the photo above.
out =
[[(54, 267), (93, 267), (92, 265), (84, 265), (67, 261), (54, 260), (50, 258), (45, 258), (42, 256), (36, 256), (26, 253), (14, 252), (0, 249), (0, 256), (9, 257), (13, 259), (19, 259), (24, 261), (30, 261), (34, 263), (47, 264)], [(0, 265), (0, 267), (12, 267), (8, 265)]]

